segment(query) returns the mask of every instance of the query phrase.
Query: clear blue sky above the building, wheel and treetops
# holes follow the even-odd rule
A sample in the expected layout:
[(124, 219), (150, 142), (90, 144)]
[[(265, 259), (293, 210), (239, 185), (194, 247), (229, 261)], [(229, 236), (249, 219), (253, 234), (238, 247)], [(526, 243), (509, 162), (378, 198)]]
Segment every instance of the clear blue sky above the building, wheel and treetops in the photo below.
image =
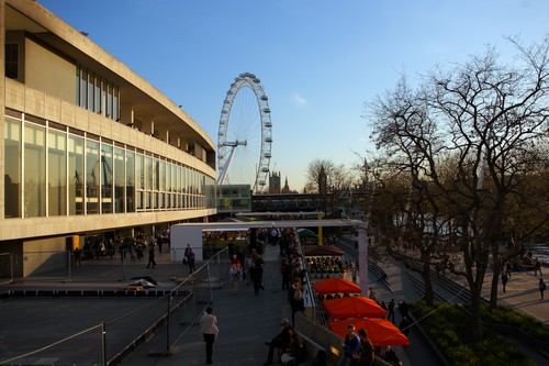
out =
[(271, 169), (302, 191), (309, 164), (372, 146), (365, 102), (503, 38), (540, 42), (548, 0), (38, 0), (191, 115), (216, 143), (234, 78), (269, 97)]

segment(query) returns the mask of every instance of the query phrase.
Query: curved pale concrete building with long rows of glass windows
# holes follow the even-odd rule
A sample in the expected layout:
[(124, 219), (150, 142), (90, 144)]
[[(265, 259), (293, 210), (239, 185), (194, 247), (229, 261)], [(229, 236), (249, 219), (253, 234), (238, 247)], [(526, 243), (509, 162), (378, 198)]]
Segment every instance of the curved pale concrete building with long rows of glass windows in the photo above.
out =
[(179, 106), (35, 1), (0, 0), (0, 277), (215, 214), (215, 145)]

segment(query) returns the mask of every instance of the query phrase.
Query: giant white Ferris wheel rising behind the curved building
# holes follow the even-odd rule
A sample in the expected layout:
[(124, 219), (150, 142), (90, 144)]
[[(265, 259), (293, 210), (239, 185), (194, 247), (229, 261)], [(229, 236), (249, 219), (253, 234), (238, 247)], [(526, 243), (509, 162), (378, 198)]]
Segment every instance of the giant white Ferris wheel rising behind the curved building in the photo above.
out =
[(254, 74), (235, 78), (227, 91), (217, 134), (217, 185), (267, 185), (272, 122), (269, 98)]

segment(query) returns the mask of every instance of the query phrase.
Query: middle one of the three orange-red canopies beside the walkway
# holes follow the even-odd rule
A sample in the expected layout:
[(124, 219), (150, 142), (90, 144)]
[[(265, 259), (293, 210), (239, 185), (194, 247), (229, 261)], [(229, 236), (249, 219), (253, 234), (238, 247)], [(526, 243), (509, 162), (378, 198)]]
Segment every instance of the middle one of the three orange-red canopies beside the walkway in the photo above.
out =
[(324, 300), (322, 306), (332, 319), (386, 317), (386, 311), (376, 301), (361, 296)]

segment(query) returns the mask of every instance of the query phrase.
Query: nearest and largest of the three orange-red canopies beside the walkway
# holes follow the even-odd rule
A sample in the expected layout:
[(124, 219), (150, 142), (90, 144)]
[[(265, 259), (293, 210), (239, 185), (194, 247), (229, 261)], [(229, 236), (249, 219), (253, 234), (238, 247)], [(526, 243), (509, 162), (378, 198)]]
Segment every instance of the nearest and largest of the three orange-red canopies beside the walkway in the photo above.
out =
[(402, 332), (386, 319), (345, 319), (328, 322), (328, 329), (337, 335), (345, 337), (347, 334), (347, 325), (349, 324), (354, 324), (357, 332), (361, 329), (366, 330), (370, 341), (378, 347), (410, 344), (408, 337), (402, 334)]

